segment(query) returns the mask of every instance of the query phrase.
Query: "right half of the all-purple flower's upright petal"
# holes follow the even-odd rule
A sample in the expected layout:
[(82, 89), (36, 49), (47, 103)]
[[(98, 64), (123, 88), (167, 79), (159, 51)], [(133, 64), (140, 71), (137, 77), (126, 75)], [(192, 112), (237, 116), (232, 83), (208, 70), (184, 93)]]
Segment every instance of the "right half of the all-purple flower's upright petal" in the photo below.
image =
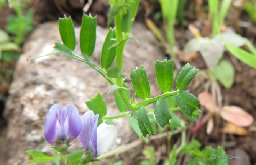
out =
[(64, 107), (64, 126), (66, 139), (72, 138), (71, 143), (80, 134), (82, 129), (79, 111), (73, 104), (67, 104)]

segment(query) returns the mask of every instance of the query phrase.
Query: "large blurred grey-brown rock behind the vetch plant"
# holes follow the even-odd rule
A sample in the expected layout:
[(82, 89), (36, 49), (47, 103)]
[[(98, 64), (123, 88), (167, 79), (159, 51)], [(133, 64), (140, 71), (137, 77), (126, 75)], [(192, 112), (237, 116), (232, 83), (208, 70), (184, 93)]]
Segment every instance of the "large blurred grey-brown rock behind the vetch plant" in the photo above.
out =
[[(80, 27), (75, 28), (79, 36)], [(93, 58), (99, 62), (102, 44), (107, 34), (107, 29), (97, 27), (97, 43)], [(164, 57), (156, 48), (157, 42), (154, 35), (142, 24), (135, 23), (131, 37), (136, 37), (139, 42), (129, 41), (125, 48), (124, 73), (130, 87), (130, 71), (141, 64), (145, 67), (151, 83), (151, 97), (161, 94), (156, 83), (154, 61), (163, 60)], [(30, 39), (25, 43), (24, 54), (16, 64), (14, 81), (10, 87), (4, 116), (8, 121), (6, 134), (0, 137), (0, 164), (16, 165), (20, 161), (23, 165), (28, 163), (26, 150), (37, 149), (53, 154), (53, 150), (44, 139), (44, 122), (49, 108), (55, 104), (74, 104), (82, 115), (89, 111), (85, 101), (95, 97), (97, 93), (105, 96), (110, 88), (108, 82), (95, 70), (83, 62), (69, 59), (61, 54), (54, 54), (43, 58), (26, 59), (40, 56), (54, 51), (54, 42), (61, 41), (57, 22), (47, 22), (34, 30)], [(77, 41), (79, 38), (77, 37)], [(80, 54), (79, 44), (75, 53)], [(105, 97), (107, 115), (118, 114), (113, 93)], [(137, 139), (128, 123), (127, 118), (113, 120), (118, 130), (118, 140), (115, 147)], [(82, 149), (79, 140), (73, 142), (69, 151)], [(136, 147), (132, 155), (124, 154), (120, 158), (125, 165), (134, 164), (131, 160), (141, 152), (141, 147)], [(106, 163), (107, 161), (105, 161)], [(44, 163), (51, 164), (51, 163)]]

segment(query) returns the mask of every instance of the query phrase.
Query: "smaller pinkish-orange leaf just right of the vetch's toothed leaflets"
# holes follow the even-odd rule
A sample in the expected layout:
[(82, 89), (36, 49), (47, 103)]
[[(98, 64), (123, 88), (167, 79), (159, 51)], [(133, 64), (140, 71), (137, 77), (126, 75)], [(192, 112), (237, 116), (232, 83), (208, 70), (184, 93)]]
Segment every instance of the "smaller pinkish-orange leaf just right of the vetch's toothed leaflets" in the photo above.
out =
[(201, 92), (198, 95), (198, 99), (200, 100), (200, 104), (204, 106), (210, 112), (218, 112), (218, 107), (212, 98), (212, 95), (207, 92)]

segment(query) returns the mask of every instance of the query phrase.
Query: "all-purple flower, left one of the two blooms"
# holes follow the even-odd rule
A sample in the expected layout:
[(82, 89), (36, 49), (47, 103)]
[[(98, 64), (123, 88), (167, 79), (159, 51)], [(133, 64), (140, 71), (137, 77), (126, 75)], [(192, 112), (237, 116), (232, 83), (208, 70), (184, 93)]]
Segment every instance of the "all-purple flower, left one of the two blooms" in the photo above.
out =
[(54, 104), (46, 116), (44, 135), (48, 143), (56, 146), (54, 141), (71, 143), (80, 134), (82, 128), (79, 112), (73, 104), (64, 108)]

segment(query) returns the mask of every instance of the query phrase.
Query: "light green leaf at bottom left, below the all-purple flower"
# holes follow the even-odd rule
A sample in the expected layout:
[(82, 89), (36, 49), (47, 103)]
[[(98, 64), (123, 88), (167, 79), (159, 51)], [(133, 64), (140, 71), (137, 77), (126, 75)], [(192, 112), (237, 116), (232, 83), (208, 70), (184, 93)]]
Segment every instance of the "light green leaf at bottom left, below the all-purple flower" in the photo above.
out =
[(30, 163), (45, 163), (45, 162), (51, 162), (54, 160), (54, 157), (51, 155), (46, 154), (42, 151), (37, 150), (27, 150), (26, 154), (30, 157), (28, 162)]

